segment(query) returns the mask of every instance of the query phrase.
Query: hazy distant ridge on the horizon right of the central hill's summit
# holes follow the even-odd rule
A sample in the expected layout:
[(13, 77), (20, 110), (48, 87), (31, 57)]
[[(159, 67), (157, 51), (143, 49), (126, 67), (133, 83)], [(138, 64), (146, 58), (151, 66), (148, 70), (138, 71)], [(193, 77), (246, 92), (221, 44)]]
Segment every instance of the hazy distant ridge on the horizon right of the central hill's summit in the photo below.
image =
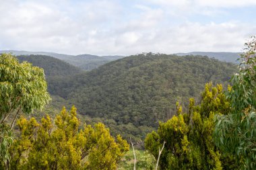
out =
[(242, 52), (188, 52), (188, 53), (177, 53), (178, 56), (186, 55), (200, 55), (209, 56), (210, 58), (216, 58), (218, 60), (236, 63), (237, 58), (240, 58)]

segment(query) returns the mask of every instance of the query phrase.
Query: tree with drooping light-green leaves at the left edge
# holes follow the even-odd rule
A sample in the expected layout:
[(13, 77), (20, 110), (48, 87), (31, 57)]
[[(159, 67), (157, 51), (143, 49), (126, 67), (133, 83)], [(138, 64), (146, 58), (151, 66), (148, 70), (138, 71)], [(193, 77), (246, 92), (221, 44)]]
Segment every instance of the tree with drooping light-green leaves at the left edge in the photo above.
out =
[[(0, 56), (0, 146), (1, 159), (7, 159), (11, 144), (11, 128), (15, 118), (23, 112), (30, 114), (42, 109), (50, 100), (44, 71), (28, 62), (18, 62), (11, 54)], [(12, 117), (11, 125), (7, 125)], [(10, 126), (10, 127), (8, 127)], [(3, 155), (2, 155), (3, 154)], [(2, 160), (1, 160), (2, 161)]]

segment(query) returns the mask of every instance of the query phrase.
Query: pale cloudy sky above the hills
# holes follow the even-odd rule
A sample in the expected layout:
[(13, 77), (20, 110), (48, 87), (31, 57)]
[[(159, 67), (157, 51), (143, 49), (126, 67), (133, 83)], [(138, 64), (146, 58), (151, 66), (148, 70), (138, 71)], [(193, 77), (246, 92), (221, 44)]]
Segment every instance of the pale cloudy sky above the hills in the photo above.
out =
[(242, 52), (255, 0), (0, 0), (0, 50)]

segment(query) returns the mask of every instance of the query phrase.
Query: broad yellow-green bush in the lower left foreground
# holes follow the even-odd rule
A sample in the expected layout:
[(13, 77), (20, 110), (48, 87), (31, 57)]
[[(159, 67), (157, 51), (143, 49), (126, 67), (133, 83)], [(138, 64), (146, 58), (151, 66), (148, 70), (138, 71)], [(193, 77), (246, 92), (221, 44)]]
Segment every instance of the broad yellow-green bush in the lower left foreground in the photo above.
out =
[(11, 146), (11, 169), (116, 169), (129, 144), (110, 136), (104, 124), (79, 130), (76, 109), (55, 118), (18, 120), (20, 135)]

